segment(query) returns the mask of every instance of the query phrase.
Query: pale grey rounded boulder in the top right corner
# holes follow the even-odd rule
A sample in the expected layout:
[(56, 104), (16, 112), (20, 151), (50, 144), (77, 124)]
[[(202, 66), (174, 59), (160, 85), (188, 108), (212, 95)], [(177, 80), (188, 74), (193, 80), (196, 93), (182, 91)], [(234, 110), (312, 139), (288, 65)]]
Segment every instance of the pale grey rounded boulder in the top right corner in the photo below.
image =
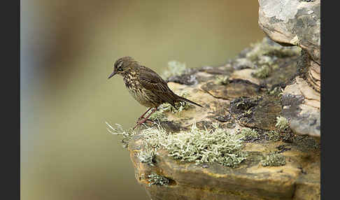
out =
[(299, 45), (320, 64), (320, 0), (259, 0), (259, 4), (259, 25), (272, 40)]

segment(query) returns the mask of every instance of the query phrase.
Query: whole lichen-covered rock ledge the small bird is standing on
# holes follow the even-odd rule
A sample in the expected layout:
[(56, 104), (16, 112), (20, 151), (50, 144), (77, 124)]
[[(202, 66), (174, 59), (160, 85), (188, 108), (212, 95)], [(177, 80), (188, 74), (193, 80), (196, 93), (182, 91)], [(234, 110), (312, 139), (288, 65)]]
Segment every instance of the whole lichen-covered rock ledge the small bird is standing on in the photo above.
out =
[(290, 85), (306, 81), (295, 78), (301, 57), (300, 48), (264, 38), (224, 66), (169, 78), (171, 90), (204, 108), (163, 106), (155, 124), (127, 134), (150, 199), (320, 199), (320, 144), (282, 117), (316, 103)]

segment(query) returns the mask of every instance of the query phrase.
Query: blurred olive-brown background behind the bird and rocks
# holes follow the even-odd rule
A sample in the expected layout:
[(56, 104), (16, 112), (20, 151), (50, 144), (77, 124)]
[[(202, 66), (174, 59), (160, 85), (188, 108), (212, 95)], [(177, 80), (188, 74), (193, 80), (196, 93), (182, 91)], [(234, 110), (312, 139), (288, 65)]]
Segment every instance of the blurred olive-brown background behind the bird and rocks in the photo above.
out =
[(257, 1), (21, 1), (21, 199), (149, 199), (106, 131), (146, 110), (113, 63), (220, 66), (264, 37), (257, 17)]

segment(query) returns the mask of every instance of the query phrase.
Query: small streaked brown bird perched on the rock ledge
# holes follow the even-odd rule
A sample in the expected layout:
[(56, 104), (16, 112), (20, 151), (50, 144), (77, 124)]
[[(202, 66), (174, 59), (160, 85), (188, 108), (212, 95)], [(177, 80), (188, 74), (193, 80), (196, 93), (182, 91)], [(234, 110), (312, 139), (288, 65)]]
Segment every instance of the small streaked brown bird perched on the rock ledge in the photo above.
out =
[[(174, 108), (176, 108), (175, 103), (178, 102), (187, 102), (194, 106), (203, 107), (198, 103), (194, 103), (173, 93), (168, 87), (167, 82), (155, 71), (146, 66), (142, 66), (132, 57), (122, 57), (118, 59), (113, 66), (113, 73), (111, 73), (108, 78), (115, 76), (115, 74), (123, 77), (125, 86), (132, 97), (141, 103), (141, 105), (148, 107), (148, 110), (137, 120), (134, 129), (139, 124), (146, 122), (148, 117), (150, 117), (162, 103), (170, 103)], [(151, 108), (154, 109), (147, 117), (144, 117)]]

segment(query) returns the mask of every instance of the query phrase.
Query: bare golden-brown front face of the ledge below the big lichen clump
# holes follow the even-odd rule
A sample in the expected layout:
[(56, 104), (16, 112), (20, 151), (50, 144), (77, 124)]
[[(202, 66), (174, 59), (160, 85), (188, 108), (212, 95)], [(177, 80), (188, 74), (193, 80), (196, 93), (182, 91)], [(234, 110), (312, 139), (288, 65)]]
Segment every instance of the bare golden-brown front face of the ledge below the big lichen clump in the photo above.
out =
[[(276, 143), (246, 143), (250, 155), (236, 169), (212, 163), (204, 167), (178, 162), (160, 150), (154, 166), (139, 161), (143, 138), (130, 142), (136, 179), (146, 188), (151, 199), (320, 199), (320, 150), (297, 143), (281, 155), (284, 166), (262, 166), (262, 152), (276, 151)], [(150, 185), (147, 175), (157, 173), (169, 180), (169, 185)], [(308, 191), (308, 192), (307, 192)]]

